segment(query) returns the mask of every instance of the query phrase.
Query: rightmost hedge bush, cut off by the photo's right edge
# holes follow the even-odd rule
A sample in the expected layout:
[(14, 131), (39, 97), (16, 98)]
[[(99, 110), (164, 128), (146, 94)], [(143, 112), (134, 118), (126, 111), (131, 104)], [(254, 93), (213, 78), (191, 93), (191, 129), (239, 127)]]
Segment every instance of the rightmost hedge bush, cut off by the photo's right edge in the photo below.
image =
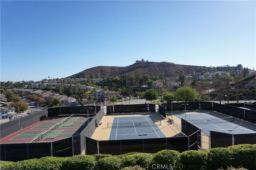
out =
[(228, 149), (232, 155), (232, 166), (256, 169), (256, 145), (234, 145)]

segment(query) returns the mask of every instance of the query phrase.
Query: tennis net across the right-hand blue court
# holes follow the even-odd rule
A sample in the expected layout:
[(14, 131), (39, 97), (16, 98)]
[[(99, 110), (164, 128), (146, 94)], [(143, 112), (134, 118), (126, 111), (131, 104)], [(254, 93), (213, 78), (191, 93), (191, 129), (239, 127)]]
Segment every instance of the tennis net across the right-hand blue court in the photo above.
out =
[(234, 117), (216, 117), (210, 119), (186, 119), (193, 124), (207, 124), (207, 123), (228, 123), (235, 121)]

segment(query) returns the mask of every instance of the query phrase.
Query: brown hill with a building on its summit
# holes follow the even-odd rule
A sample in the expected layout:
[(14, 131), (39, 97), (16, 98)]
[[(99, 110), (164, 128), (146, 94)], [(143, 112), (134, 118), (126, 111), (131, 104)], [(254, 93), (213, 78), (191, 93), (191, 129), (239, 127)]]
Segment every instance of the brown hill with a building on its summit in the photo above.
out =
[(190, 74), (191, 72), (207, 72), (210, 71), (211, 67), (206, 66), (190, 66), (190, 65), (180, 65), (168, 62), (148, 62), (148, 61), (136, 61), (136, 63), (119, 67), (119, 66), (96, 66), (88, 68), (82, 72), (69, 76), (67, 78), (84, 78), (84, 75), (94, 74), (96, 77), (114, 77), (120, 76), (122, 74), (134, 74), (136, 69), (141, 69), (143, 73), (153, 75), (160, 75), (162, 70), (166, 77), (172, 77), (175, 74), (175, 71), (183, 71), (185, 75)]

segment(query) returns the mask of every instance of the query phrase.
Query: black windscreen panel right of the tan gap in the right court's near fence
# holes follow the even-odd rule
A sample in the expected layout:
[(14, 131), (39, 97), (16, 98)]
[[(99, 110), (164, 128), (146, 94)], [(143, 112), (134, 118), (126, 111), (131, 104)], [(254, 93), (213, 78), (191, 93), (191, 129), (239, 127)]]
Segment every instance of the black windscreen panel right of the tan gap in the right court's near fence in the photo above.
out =
[(232, 146), (232, 134), (210, 131), (210, 143), (210, 148)]

